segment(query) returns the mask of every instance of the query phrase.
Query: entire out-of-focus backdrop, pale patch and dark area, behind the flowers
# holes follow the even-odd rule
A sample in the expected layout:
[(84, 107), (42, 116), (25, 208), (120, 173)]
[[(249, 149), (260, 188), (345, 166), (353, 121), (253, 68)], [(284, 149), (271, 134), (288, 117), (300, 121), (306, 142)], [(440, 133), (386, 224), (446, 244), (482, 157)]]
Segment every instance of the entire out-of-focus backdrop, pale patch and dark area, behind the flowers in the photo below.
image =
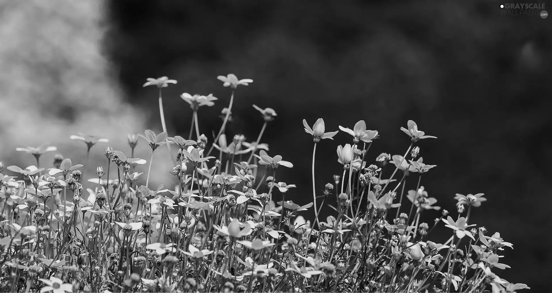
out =
[[(422, 178), (429, 195), (455, 215), (455, 193), (485, 193), (473, 223), (514, 244), (502, 259), (512, 268), (496, 273), (548, 292), (552, 19), (503, 16), (500, 4), (2, 1), (0, 159), (28, 166), (34, 159), (14, 148), (44, 141), (82, 161), (84, 144), (68, 139), (77, 131), (128, 151), (128, 132), (161, 130), (157, 91), (142, 88), (148, 77), (178, 80), (163, 89), (170, 136), (188, 136), (192, 110), (180, 94), (219, 98), (199, 112), (200, 131), (212, 137), (230, 99), (216, 76), (234, 73), (254, 82), (236, 90), (227, 135), (257, 137), (262, 118), (252, 104), (277, 111), (262, 142), (295, 164), (278, 169), (278, 181), (298, 185), (286, 198), (311, 200), (312, 140), (302, 119), (323, 118), (327, 131), (365, 120), (381, 137), (369, 162), (404, 154), (410, 141), (399, 129), (415, 120), (438, 137), (418, 144), (424, 162), (437, 165)], [(317, 150), (319, 190), (342, 173), (336, 147), (351, 137), (335, 138)], [(89, 172), (105, 166), (103, 147), (93, 148)], [(162, 179), (170, 170), (163, 152), (153, 179), (174, 184)], [(144, 143), (137, 156), (149, 157)], [(407, 188), (416, 180), (408, 177)], [(427, 214), (429, 223), (439, 215)], [(434, 233), (445, 241), (449, 231)]]

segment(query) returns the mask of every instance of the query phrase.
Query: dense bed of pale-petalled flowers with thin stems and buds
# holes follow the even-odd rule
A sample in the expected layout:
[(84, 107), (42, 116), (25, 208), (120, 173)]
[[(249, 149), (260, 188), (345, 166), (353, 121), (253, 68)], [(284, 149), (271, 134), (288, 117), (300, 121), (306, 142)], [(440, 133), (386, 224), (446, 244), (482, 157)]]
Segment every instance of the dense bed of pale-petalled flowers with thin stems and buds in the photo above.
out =
[[(415, 144), (436, 137), (418, 130), (414, 121), (401, 127), (410, 138), (405, 155), (382, 153), (372, 157), (373, 164), (368, 151), (378, 131), (367, 130), (362, 120), (353, 129), (339, 126), (352, 136), (352, 144), (337, 147), (343, 174), (322, 188), (315, 184), (316, 146), (333, 140), (338, 131), (326, 132), (322, 119), (312, 127), (303, 120), (314, 149), (312, 203), (301, 206), (285, 200), (295, 185), (276, 180), (279, 167), (293, 164), (269, 156), (268, 146), (259, 143), (277, 114), (253, 105), (264, 120), (257, 140), (248, 143), (235, 135), (229, 143), (224, 132), (235, 90), (253, 81), (233, 74), (219, 79), (232, 94), (210, 148), (199, 131), (198, 110), (217, 98), (184, 93), (182, 99), (193, 110), (194, 140), (193, 131), (188, 139), (168, 137), (166, 131), (129, 135), (130, 157), (107, 147), (106, 161), (95, 162), (103, 166), (87, 179), (79, 170), (82, 164), (60, 155), (53, 168), (40, 168), (40, 156), (56, 151), (52, 146), (17, 149), (33, 155), (36, 166), (6, 168), (0, 163), (0, 172), (16, 175), (0, 174), (0, 290), (497, 293), (528, 288), (495, 274), (509, 268), (499, 254), (512, 244), (498, 232), (488, 236), (484, 227), (469, 223), (471, 210), (486, 200), (483, 194), (457, 194), (454, 220), (420, 185), (422, 175), (436, 166), (423, 163)], [(150, 78), (144, 84), (159, 89), (163, 128), (161, 90), (170, 83), (176, 81)], [(86, 143), (87, 158), (94, 145), (109, 142), (84, 134), (70, 138)], [(149, 162), (134, 158), (140, 140), (151, 147)], [(150, 185), (153, 155), (162, 145), (176, 151), (171, 155), (178, 182), (174, 189)], [(214, 148), (218, 158), (210, 156)], [(147, 163), (146, 176), (134, 171), (136, 164)], [(391, 174), (389, 179), (382, 178), (384, 172)], [(405, 193), (412, 174), (417, 174), (417, 187)], [(88, 196), (83, 195), (83, 180), (93, 187), (86, 189)], [(401, 212), (403, 202), (408, 204)], [(325, 203), (336, 204), (336, 215), (321, 222)], [(309, 210), (315, 215), (312, 223), (299, 215)], [(420, 223), (422, 213), (437, 219), (431, 225)], [(429, 241), (441, 222), (452, 236), (444, 243)]]

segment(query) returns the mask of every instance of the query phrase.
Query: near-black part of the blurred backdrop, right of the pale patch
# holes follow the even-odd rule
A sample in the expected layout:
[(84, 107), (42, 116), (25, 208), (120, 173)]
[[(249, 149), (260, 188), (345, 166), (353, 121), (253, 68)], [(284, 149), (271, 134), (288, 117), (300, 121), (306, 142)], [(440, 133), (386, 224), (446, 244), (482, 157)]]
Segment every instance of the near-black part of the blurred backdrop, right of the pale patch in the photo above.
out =
[[(438, 137), (418, 143), (424, 162), (437, 165), (421, 185), (453, 217), (455, 193), (485, 193), (488, 201), (472, 211), (471, 222), (514, 244), (502, 259), (512, 268), (495, 273), (546, 292), (552, 19), (503, 16), (500, 4), (113, 0), (104, 54), (126, 99), (151, 111), (151, 127), (160, 128), (156, 89), (142, 84), (147, 77), (178, 80), (163, 89), (170, 136), (187, 137), (190, 127), (192, 110), (180, 94), (219, 98), (199, 111), (200, 131), (211, 137), (230, 99), (216, 76), (253, 79), (236, 90), (227, 135), (254, 141), (262, 118), (251, 105), (275, 109), (262, 142), (270, 155), (295, 164), (278, 169), (277, 180), (298, 185), (286, 195), (297, 203), (312, 199), (312, 139), (302, 119), (312, 125), (323, 118), (326, 131), (365, 120), (381, 137), (369, 163), (381, 152), (403, 155), (410, 141), (399, 128), (415, 120)], [(317, 150), (319, 190), (342, 173), (336, 147), (351, 136), (335, 138)], [(384, 177), (392, 171), (388, 166)], [(411, 175), (407, 188), (416, 180)], [(430, 224), (439, 216), (426, 214)], [(432, 240), (446, 241), (447, 230), (440, 227)]]

